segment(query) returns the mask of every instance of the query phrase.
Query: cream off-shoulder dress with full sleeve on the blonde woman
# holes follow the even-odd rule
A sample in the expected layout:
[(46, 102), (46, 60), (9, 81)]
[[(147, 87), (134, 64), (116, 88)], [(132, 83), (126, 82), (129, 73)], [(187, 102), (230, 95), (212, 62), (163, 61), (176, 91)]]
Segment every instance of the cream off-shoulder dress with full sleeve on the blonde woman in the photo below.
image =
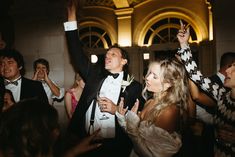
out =
[(116, 116), (118, 123), (132, 140), (133, 150), (130, 157), (171, 157), (182, 145), (179, 134), (170, 134), (154, 124), (140, 121), (132, 111), (128, 111), (125, 116), (116, 112)]

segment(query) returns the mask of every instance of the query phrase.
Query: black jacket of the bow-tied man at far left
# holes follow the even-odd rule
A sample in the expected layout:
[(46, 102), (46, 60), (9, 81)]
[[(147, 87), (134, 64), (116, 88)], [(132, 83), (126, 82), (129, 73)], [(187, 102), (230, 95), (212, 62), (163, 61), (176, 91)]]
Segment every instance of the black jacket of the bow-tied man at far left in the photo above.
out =
[(41, 82), (30, 80), (25, 77), (22, 77), (21, 79), (20, 100), (38, 98), (39, 100), (48, 103), (48, 98)]

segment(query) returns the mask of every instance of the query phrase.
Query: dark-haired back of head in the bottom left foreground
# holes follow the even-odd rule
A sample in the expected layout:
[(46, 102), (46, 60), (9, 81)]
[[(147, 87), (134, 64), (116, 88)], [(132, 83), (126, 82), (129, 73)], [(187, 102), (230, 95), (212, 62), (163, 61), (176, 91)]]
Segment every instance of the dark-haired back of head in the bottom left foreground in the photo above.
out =
[(46, 155), (58, 128), (57, 110), (38, 99), (20, 101), (0, 119), (0, 151), (13, 150), (16, 156)]

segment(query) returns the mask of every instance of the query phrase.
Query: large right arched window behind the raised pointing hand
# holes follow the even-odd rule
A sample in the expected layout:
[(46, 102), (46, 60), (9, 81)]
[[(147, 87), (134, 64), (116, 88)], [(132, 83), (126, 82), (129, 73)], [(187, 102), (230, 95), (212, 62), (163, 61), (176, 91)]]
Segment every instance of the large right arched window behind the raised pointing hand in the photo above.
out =
[[(188, 23), (181, 19), (182, 22), (187, 26)], [(180, 28), (180, 19), (178, 18), (165, 18), (154, 23), (147, 31), (144, 37), (145, 45), (163, 44), (163, 43), (175, 43), (177, 41), (177, 33)], [(190, 35), (191, 41), (197, 41), (195, 31), (191, 26)]]

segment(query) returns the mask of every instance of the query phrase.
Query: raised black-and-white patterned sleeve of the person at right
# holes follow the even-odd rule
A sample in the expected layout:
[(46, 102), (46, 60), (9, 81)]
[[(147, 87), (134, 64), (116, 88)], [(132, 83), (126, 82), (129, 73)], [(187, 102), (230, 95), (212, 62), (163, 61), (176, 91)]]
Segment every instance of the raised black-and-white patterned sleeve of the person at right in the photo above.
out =
[(202, 90), (213, 96), (215, 100), (218, 100), (219, 95), (222, 94), (221, 92), (225, 92), (225, 89), (220, 87), (217, 83), (211, 82), (208, 77), (204, 77), (202, 75), (196, 62), (193, 60), (190, 47), (187, 46), (185, 48), (179, 48), (177, 53), (184, 63), (190, 79), (198, 84)]

